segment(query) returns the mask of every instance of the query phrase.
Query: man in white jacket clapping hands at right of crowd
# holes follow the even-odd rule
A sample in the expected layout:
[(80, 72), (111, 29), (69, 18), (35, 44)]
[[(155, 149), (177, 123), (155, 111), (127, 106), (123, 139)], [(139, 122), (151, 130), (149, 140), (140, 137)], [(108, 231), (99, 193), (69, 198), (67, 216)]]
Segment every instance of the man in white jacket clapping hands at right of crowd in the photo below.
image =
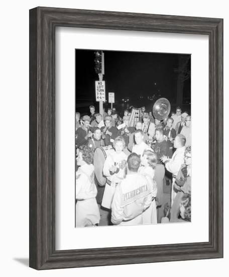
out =
[(184, 152), (185, 152), (186, 138), (183, 134), (178, 134), (174, 140), (174, 148), (176, 151), (173, 153), (172, 159), (169, 157), (162, 156), (161, 161), (165, 164), (165, 168), (173, 174), (172, 191), (171, 191), (171, 206), (176, 196), (177, 191), (174, 189), (177, 173), (184, 163)]

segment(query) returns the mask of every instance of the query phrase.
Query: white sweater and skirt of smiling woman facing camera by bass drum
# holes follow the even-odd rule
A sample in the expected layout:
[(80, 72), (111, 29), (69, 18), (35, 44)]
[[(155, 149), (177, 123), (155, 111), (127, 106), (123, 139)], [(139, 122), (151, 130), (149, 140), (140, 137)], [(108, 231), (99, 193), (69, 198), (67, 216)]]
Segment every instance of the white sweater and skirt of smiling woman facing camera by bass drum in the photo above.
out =
[[(106, 209), (110, 209), (116, 186), (125, 177), (126, 161), (127, 155), (124, 152), (117, 154), (115, 151), (111, 151), (106, 157), (103, 165), (103, 175), (106, 176), (106, 184), (101, 202), (101, 205)], [(117, 171), (115, 173), (109, 171), (112, 165), (117, 166)]]

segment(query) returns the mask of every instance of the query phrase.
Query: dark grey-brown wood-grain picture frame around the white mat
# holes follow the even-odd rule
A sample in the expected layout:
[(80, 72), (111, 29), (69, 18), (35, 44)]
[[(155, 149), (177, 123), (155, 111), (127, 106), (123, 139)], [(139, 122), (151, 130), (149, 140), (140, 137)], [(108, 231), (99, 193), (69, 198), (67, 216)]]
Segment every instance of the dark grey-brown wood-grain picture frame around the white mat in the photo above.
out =
[[(55, 250), (55, 27), (209, 37), (209, 241)], [(38, 7), (30, 10), (30, 267), (223, 257), (223, 20)]]

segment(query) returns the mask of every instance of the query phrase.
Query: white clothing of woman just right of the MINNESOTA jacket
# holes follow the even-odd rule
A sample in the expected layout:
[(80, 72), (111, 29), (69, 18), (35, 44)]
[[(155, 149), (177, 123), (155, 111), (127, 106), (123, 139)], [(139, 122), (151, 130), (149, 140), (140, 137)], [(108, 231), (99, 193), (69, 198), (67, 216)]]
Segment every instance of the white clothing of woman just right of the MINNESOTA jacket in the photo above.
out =
[(151, 167), (141, 166), (138, 172), (145, 176), (151, 193), (152, 193), (152, 201), (150, 206), (143, 212), (143, 224), (157, 224), (157, 206), (156, 206), (156, 196), (157, 196), (157, 184), (155, 180), (155, 170)]

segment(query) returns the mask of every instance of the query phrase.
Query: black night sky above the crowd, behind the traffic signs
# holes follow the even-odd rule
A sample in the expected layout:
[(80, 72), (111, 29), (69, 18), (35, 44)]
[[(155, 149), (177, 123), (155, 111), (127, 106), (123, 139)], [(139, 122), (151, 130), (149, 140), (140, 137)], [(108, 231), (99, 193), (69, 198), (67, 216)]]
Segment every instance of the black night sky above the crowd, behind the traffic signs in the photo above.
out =
[[(148, 105), (148, 96), (165, 97), (171, 105), (176, 104), (179, 54), (103, 51), (103, 80), (108, 92), (115, 92), (116, 101), (129, 98), (130, 105)], [(98, 75), (94, 70), (94, 50), (76, 49), (76, 109), (95, 102), (94, 81)], [(184, 99), (190, 98), (190, 79), (184, 83)], [(142, 96), (143, 98), (140, 98)], [(116, 104), (115, 104), (116, 105)], [(118, 105), (118, 104), (117, 104)], [(153, 105), (153, 104), (152, 104)], [(96, 105), (97, 106), (97, 105)]]

